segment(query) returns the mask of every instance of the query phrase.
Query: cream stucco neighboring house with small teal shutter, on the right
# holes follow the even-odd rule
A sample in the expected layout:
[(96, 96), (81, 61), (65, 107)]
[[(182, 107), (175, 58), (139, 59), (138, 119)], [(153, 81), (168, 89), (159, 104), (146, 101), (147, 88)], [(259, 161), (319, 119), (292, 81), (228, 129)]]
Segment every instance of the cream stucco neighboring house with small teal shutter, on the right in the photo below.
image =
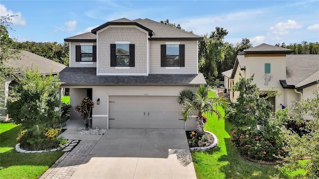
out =
[[(244, 50), (237, 55), (231, 73), (222, 73), (225, 84), (228, 83), (230, 89), (239, 80), (239, 73), (245, 78), (255, 74), (253, 83), (260, 90), (268, 92), (270, 89), (282, 94), (269, 99), (274, 110), (291, 108), (295, 101), (314, 96), (319, 81), (319, 55), (288, 55), (292, 52), (265, 43)], [(238, 95), (238, 91), (231, 90), (230, 100), (236, 102)]]

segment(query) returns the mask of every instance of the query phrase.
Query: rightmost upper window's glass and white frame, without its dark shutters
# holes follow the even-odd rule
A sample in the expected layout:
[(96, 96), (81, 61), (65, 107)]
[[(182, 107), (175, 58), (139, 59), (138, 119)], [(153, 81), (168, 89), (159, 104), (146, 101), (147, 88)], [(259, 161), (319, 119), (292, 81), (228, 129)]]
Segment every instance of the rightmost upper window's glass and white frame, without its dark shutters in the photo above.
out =
[(179, 45), (166, 45), (166, 67), (179, 67)]

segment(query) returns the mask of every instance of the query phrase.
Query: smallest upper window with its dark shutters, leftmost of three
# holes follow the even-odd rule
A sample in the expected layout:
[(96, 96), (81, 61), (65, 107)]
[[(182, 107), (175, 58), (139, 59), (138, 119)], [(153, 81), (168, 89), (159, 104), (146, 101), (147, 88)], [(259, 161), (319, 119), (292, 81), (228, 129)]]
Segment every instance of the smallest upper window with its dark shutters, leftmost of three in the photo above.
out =
[(96, 45), (76, 45), (76, 62), (96, 62)]

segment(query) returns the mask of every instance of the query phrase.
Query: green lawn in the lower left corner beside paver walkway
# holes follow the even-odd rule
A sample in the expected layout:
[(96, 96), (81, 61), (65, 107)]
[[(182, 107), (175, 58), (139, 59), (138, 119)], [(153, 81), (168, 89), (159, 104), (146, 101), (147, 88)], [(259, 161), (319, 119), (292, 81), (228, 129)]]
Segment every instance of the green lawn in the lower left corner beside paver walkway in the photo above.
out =
[(20, 125), (0, 123), (0, 179), (37, 179), (63, 152), (21, 154), (14, 149)]

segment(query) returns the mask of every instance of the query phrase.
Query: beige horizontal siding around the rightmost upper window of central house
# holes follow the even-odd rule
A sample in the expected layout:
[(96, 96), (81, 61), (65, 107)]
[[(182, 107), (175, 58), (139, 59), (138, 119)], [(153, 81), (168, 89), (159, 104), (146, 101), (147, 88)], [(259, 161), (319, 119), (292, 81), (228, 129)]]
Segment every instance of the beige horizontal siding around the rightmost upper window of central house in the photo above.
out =
[[(185, 67), (179, 67), (179, 69), (160, 67), (160, 45), (165, 45), (166, 42), (185, 44)], [(150, 74), (197, 74), (197, 66), (196, 40), (150, 40)]]

